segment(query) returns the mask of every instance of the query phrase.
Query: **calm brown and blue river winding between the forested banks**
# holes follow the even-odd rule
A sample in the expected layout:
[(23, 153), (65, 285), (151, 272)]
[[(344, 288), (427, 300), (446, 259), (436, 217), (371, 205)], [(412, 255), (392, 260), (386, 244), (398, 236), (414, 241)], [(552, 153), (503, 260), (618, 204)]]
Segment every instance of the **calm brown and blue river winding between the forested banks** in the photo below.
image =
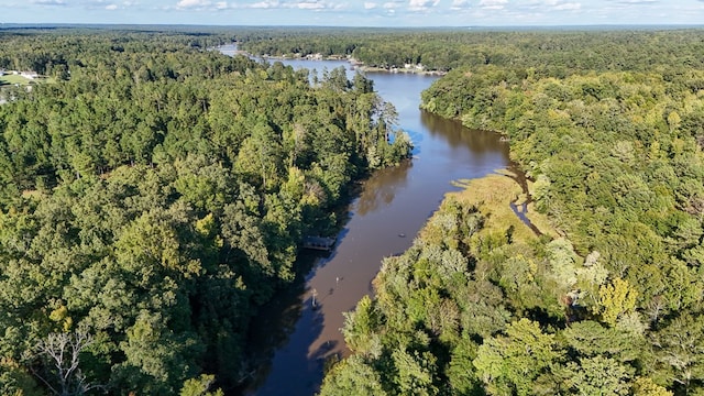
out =
[[(318, 72), (350, 67), (332, 61), (285, 64)], [(371, 282), (382, 258), (410, 246), (444, 194), (457, 190), (452, 180), (482, 177), (508, 165), (508, 145), (498, 135), (470, 131), (418, 109), (420, 92), (438, 77), (387, 73), (367, 77), (384, 100), (396, 107), (399, 127), (416, 146), (414, 160), (381, 170), (364, 183), (349, 207), (350, 219), (336, 250), (316, 258), (298, 287), (278, 296), (256, 318), (249, 346), (262, 365), (250, 395), (315, 394), (324, 359), (348, 352), (340, 332), (342, 312), (372, 293)]]

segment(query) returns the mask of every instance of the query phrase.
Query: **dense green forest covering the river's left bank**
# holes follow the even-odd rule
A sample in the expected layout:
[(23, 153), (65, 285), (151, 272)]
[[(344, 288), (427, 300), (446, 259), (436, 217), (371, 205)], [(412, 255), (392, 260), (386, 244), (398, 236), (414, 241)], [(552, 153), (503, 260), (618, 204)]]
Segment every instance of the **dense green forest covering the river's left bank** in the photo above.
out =
[(366, 78), (311, 87), (204, 40), (0, 33), (10, 67), (66, 66), (0, 106), (0, 393), (235, 386), (249, 319), (294, 278), (302, 235), (332, 232), (350, 184), (408, 156)]

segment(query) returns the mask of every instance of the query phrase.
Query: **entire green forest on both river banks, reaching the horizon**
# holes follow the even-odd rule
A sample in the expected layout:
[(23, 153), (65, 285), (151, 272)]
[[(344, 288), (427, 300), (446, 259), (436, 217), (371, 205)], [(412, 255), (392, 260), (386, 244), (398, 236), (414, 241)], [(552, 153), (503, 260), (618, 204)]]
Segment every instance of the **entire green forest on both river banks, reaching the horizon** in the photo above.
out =
[(424, 109), (519, 170), (384, 261), (321, 395), (704, 394), (704, 32), (268, 28), (0, 31), (0, 68), (55, 80), (0, 87), (3, 394), (232, 389), (302, 235), (408, 155), (371, 80), (232, 40), (449, 70)]

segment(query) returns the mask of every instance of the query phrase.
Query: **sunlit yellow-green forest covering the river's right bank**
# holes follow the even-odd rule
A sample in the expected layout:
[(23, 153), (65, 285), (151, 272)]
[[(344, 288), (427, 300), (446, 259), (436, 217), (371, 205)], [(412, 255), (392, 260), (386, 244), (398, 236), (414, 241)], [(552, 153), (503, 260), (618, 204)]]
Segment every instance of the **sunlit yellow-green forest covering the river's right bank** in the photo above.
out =
[[(653, 34), (682, 33), (632, 40)], [(322, 395), (703, 392), (704, 72), (631, 63), (648, 46), (583, 51), (612, 45), (613, 70), (462, 67), (424, 92), (510, 140), (561, 237), (519, 239), (491, 207), (449, 200), (348, 317), (354, 353)]]

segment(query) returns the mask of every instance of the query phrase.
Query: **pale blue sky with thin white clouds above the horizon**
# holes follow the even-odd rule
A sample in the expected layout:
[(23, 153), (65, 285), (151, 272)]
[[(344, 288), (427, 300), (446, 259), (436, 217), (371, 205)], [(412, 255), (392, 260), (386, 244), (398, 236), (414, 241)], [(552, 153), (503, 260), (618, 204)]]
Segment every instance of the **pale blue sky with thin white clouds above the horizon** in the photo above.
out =
[(0, 23), (703, 24), (704, 0), (0, 0)]

